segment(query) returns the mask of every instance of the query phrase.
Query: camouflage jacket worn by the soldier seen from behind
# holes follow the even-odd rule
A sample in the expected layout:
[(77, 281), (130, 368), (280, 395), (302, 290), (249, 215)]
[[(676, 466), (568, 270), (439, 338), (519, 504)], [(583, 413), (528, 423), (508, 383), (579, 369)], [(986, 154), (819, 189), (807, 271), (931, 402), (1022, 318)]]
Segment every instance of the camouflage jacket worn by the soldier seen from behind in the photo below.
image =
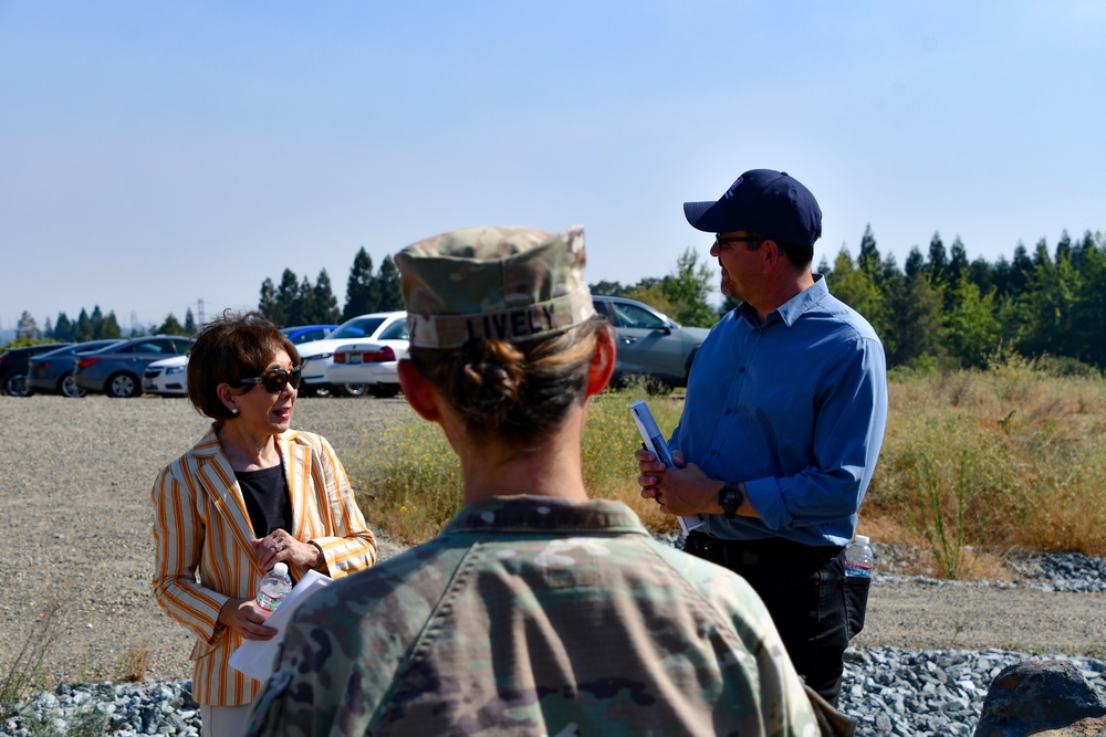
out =
[(818, 735), (815, 710), (742, 578), (620, 503), (511, 496), (312, 594), (247, 734)]

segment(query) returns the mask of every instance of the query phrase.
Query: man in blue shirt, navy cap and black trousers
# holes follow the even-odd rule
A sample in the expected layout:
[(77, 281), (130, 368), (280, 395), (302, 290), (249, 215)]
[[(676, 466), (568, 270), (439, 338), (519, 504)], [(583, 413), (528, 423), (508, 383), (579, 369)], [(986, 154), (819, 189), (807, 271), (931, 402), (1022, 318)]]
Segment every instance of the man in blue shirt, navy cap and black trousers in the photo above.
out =
[(868, 579), (846, 582), (842, 561), (887, 420), (884, 349), (811, 272), (822, 211), (796, 179), (754, 169), (684, 211), (716, 234), (722, 293), (741, 304), (696, 355), (678, 467), (637, 452), (641, 495), (703, 515), (686, 549), (752, 585), (795, 668), (836, 703), (867, 600)]

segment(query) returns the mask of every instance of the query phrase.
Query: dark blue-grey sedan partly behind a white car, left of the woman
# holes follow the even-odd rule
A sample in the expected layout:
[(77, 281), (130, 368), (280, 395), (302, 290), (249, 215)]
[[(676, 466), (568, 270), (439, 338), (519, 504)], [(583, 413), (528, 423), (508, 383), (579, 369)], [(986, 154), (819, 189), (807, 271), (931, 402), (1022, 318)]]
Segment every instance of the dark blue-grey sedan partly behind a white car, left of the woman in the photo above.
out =
[(85, 354), (76, 361), (76, 386), (108, 397), (138, 397), (146, 367), (161, 358), (182, 356), (191, 345), (179, 335), (132, 338), (115, 346)]

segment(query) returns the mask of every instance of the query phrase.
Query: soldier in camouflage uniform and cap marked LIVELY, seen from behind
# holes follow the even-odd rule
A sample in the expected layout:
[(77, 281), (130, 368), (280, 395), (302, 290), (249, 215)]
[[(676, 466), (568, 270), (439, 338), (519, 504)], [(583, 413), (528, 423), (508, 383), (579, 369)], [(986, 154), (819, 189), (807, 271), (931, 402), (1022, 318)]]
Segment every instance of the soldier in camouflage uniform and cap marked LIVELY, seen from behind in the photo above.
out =
[(737, 575), (589, 501), (580, 433), (614, 366), (583, 230), (481, 228), (396, 256), (404, 393), (461, 457), (444, 533), (303, 603), (251, 735), (818, 735)]

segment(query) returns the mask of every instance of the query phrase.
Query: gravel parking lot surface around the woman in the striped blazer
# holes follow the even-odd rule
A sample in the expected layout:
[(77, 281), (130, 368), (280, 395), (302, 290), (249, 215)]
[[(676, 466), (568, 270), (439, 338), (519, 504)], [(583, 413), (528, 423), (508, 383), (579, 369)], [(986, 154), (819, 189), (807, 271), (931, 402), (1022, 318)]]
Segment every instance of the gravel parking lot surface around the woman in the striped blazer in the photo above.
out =
[[(301, 399), (294, 427), (345, 459), (398, 411), (408, 411), (401, 399)], [(149, 489), (208, 424), (177, 398), (0, 396), (0, 666), (61, 604), (52, 681), (112, 677), (131, 651), (148, 653), (150, 676), (191, 676), (192, 635), (152, 594)]]

